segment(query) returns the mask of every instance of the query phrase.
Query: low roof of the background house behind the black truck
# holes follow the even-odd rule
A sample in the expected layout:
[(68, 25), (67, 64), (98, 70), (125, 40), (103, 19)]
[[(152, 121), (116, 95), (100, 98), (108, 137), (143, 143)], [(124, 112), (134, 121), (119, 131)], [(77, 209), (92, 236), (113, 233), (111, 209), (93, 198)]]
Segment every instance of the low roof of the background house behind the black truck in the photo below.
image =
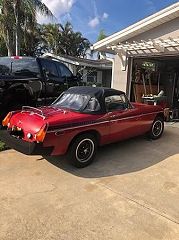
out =
[(56, 60), (60, 60), (62, 62), (76, 65), (76, 66), (86, 66), (86, 67), (94, 67), (100, 69), (111, 69), (112, 62), (106, 59), (92, 60), (86, 58), (72, 57), (67, 55), (57, 56), (51, 53), (45, 53), (43, 57), (49, 57)]

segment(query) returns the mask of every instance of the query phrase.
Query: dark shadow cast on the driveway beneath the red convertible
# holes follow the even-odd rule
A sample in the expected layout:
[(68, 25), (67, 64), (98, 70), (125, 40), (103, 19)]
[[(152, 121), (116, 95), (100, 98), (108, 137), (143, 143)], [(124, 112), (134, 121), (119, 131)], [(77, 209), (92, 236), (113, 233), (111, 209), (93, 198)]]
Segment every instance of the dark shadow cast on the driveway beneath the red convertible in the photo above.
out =
[[(172, 129), (172, 128), (171, 128)], [(151, 141), (137, 137), (103, 146), (95, 161), (86, 168), (77, 169), (65, 157), (45, 157), (54, 166), (84, 178), (100, 178), (140, 171), (179, 153), (179, 134), (167, 129), (162, 138)], [(176, 144), (170, 144), (173, 142)]]

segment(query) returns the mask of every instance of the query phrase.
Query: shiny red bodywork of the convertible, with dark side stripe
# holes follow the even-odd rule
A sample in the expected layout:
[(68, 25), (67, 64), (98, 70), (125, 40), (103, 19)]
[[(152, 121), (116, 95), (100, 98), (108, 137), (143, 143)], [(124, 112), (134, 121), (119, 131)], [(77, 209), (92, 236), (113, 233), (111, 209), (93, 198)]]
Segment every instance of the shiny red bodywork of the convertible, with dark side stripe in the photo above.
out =
[[(23, 129), (24, 142), (36, 142), (35, 135), (48, 124), (43, 147), (53, 147), (51, 155), (63, 155), (73, 139), (79, 134), (93, 132), (98, 135), (99, 145), (145, 134), (158, 114), (163, 114), (160, 106), (132, 103), (133, 108), (109, 113), (87, 114), (63, 110), (54, 106), (39, 108), (42, 114), (31, 110), (14, 112), (8, 128)], [(31, 133), (32, 138), (27, 138)]]

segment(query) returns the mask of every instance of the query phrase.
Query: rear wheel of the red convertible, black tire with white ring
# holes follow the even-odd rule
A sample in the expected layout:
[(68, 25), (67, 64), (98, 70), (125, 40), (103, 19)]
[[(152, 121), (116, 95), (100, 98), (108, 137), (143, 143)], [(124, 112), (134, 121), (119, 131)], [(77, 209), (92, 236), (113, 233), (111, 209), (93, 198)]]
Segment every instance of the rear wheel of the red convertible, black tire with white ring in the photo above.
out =
[(92, 134), (77, 137), (68, 150), (68, 160), (77, 168), (91, 164), (97, 152), (97, 139)]

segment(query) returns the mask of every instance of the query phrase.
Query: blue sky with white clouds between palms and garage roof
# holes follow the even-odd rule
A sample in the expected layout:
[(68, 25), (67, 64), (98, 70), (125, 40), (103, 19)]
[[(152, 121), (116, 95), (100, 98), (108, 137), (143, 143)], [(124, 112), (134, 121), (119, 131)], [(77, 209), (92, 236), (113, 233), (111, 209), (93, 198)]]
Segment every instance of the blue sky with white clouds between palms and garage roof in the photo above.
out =
[(39, 23), (70, 21), (91, 43), (100, 30), (107, 36), (171, 5), (174, 0), (42, 0), (56, 19), (38, 16)]

